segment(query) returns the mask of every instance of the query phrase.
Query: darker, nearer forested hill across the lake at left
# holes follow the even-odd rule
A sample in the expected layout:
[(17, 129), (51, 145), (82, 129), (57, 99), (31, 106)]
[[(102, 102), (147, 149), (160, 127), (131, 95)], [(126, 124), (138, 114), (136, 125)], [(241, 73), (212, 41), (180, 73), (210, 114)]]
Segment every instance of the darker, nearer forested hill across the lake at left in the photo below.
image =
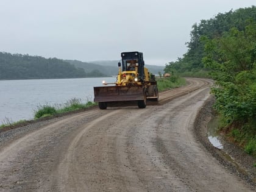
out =
[(85, 73), (61, 59), (0, 52), (0, 79), (62, 79), (104, 76), (95, 70)]

